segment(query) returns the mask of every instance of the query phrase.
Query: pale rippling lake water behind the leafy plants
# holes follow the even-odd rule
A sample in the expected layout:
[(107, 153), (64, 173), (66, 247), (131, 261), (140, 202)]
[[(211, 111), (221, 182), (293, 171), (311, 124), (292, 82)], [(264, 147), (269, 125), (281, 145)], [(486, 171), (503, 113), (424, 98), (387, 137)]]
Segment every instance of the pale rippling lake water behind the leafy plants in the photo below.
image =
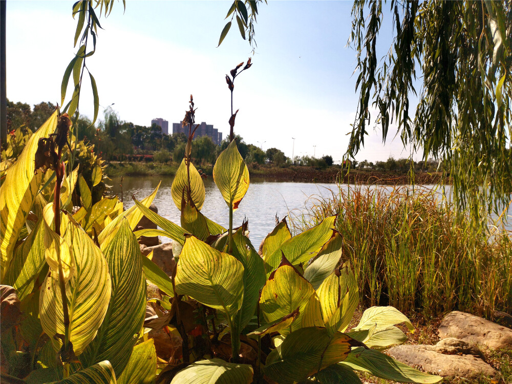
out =
[[(158, 214), (164, 218), (180, 224), (180, 211), (174, 204), (170, 195), (170, 187), (173, 177), (165, 176), (126, 176), (123, 178), (122, 196), (124, 207), (127, 209), (134, 205), (132, 194), (137, 200), (149, 195), (162, 181), (158, 193), (153, 201), (158, 208)], [(120, 178), (112, 180), (113, 192), (121, 197)], [(201, 212), (207, 218), (221, 224), (225, 228), (229, 226), (229, 209), (222, 198), (222, 195), (213, 182), (211, 176), (204, 180), (206, 197)], [(432, 188), (434, 186), (425, 186)], [(342, 185), (342, 188), (348, 188)], [(390, 189), (392, 187), (389, 187)], [(308, 197), (317, 195), (330, 197), (331, 191), (337, 191), (336, 184), (314, 184), (295, 182), (275, 182), (251, 179), (249, 190), (240, 203), (239, 208), (233, 214), (233, 226), (238, 227), (244, 218), (249, 220), (250, 239), (255, 248), (258, 249), (261, 241), (272, 231), (275, 226), (275, 217), (279, 220), (289, 214), (304, 210), (313, 203)], [(512, 209), (512, 208), (511, 208)], [(509, 210), (512, 215), (512, 210)], [(510, 225), (508, 225), (508, 229)], [(170, 239), (161, 237), (162, 242)]]

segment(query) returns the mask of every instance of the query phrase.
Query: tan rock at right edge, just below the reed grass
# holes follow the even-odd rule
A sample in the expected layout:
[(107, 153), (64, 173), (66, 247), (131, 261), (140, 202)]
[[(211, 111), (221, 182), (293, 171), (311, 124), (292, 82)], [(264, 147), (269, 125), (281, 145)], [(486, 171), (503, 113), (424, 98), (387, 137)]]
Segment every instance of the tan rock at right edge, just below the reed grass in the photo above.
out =
[(455, 337), (480, 348), (512, 347), (512, 329), (469, 313), (454, 311), (447, 314), (438, 331), (441, 339)]

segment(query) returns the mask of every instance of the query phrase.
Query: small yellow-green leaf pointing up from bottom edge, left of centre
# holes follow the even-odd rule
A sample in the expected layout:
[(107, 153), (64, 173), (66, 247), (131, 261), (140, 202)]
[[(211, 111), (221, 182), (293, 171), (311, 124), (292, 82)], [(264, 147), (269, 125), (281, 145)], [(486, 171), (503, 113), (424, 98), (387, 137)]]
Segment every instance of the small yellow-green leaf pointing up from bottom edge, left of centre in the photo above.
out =
[(117, 384), (152, 384), (157, 373), (157, 354), (152, 338), (136, 345)]

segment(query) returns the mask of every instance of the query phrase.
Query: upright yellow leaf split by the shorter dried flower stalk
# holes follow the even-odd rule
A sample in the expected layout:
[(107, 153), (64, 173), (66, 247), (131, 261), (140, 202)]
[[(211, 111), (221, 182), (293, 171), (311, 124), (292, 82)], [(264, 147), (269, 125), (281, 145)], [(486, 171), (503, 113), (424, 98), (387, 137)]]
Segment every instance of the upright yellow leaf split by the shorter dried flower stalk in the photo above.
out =
[[(204, 183), (201, 175), (197, 171), (194, 164), (190, 163), (189, 166), (190, 172), (190, 197), (192, 201), (196, 205), (197, 209), (201, 210), (204, 204)], [(187, 198), (187, 186), (188, 186), (188, 176), (187, 176), (187, 166), (185, 163), (185, 159), (182, 160), (178, 170), (176, 171), (176, 176), (173, 180), (173, 185), (170, 187), (171, 195), (173, 196), (174, 203), (178, 209), (181, 209), (181, 197), (185, 196)], [(183, 193), (183, 189), (185, 189), (185, 193)]]

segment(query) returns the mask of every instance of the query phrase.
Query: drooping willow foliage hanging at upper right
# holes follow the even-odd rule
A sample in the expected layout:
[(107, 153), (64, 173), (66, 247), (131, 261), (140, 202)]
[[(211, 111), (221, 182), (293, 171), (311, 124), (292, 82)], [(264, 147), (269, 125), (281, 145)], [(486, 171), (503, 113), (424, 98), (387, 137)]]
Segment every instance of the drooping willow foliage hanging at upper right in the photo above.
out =
[[(368, 0), (354, 3), (352, 17), (359, 104), (347, 155), (364, 145), (370, 118), (383, 141), (396, 124), (404, 146), (442, 160), (458, 208), (476, 219), (501, 212), (512, 194), (512, 4)], [(389, 36), (379, 31), (391, 21), (381, 58), (377, 45)]]

